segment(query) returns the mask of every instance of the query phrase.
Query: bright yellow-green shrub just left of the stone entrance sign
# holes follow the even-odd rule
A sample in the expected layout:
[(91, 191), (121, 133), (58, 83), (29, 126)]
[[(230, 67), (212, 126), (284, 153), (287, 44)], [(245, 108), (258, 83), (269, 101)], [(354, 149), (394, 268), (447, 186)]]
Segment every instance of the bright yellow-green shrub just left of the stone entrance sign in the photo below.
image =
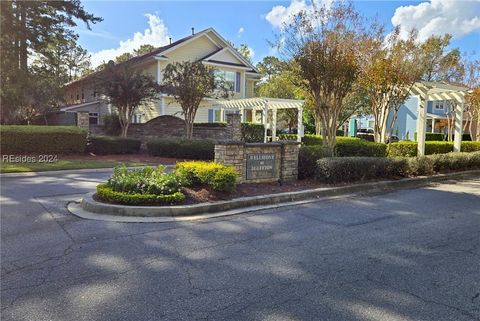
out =
[(206, 185), (220, 192), (234, 191), (238, 178), (233, 166), (214, 162), (178, 162), (175, 172), (187, 185)]

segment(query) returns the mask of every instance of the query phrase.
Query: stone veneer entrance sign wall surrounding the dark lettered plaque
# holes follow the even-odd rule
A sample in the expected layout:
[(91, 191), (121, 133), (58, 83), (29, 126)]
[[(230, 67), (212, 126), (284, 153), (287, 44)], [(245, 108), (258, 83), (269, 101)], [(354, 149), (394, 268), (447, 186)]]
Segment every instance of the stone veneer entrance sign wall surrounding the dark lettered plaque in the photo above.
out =
[[(234, 166), (241, 183), (266, 183), (298, 178), (300, 144), (291, 141), (274, 143), (220, 142), (215, 145), (215, 162)], [(275, 154), (275, 177), (247, 180), (248, 154)]]

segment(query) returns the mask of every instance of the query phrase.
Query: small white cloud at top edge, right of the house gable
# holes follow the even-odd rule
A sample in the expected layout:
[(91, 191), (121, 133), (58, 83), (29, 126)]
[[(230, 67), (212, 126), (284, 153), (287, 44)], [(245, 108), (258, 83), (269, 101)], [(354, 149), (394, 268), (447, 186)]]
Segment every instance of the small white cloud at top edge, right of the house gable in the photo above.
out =
[(299, 12), (312, 12), (314, 6), (329, 7), (332, 2), (333, 0), (312, 0), (307, 3), (305, 0), (292, 0), (288, 7), (281, 5), (273, 7), (272, 10), (266, 14), (265, 19), (270, 22), (273, 27), (281, 29), (285, 24), (291, 23), (295, 15)]

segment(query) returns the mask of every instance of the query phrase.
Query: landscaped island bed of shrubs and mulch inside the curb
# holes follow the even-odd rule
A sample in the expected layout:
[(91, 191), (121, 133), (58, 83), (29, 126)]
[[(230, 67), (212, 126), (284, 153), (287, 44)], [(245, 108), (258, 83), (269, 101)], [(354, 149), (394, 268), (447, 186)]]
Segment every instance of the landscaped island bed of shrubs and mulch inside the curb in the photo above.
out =
[(179, 162), (170, 173), (162, 166), (117, 167), (107, 183), (98, 185), (96, 194), (83, 200), (82, 207), (126, 216), (198, 215), (339, 193), (411, 188), (480, 175), (477, 170), (480, 152), (415, 158), (326, 157), (317, 160), (314, 178), (284, 184), (238, 185), (233, 167), (214, 162)]

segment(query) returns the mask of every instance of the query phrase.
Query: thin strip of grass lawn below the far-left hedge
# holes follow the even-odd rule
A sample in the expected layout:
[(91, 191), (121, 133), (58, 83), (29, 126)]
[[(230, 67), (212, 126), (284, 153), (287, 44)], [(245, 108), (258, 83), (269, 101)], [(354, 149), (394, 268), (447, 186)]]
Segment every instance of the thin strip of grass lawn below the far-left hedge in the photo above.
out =
[(147, 162), (122, 162), (114, 160), (64, 159), (53, 163), (0, 163), (0, 173), (60, 171), (66, 169), (113, 168), (115, 165), (142, 166)]

